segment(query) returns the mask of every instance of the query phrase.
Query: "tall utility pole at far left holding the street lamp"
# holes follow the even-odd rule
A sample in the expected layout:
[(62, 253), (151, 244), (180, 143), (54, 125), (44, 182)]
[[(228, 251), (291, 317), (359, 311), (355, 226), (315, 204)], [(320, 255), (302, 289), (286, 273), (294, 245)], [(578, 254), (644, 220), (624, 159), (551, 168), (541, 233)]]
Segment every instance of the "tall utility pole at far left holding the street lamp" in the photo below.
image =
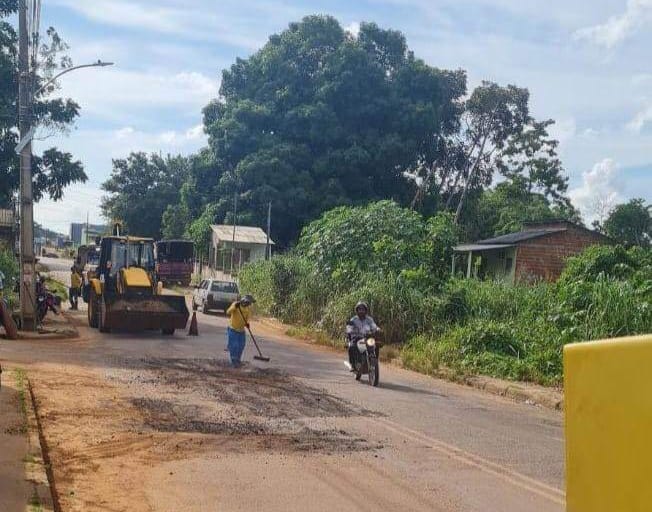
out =
[[(27, 1), (18, 4), (18, 118), (21, 140), (32, 124), (32, 91), (27, 31)], [(32, 197), (32, 143), (20, 151), (20, 317), (25, 331), (36, 330), (36, 260), (34, 258), (34, 203)]]

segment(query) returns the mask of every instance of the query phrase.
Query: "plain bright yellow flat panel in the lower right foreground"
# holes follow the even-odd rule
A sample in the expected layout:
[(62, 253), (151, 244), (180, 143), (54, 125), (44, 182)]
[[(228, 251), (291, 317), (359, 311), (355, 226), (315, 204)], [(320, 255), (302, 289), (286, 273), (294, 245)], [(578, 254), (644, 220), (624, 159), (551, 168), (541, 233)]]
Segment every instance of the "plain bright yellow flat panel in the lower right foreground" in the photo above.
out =
[(652, 335), (564, 348), (567, 512), (652, 511)]

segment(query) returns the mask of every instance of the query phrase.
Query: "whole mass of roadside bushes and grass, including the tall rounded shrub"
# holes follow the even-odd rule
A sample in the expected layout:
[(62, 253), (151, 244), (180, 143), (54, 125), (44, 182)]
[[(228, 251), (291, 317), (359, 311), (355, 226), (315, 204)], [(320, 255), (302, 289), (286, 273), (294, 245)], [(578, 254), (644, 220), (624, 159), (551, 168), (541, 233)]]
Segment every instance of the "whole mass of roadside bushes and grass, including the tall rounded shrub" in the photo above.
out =
[(565, 344), (652, 332), (649, 249), (592, 247), (557, 283), (527, 286), (450, 278), (456, 239), (450, 215), (424, 220), (387, 201), (337, 208), (290, 254), (245, 267), (241, 288), (262, 312), (304, 326), (294, 334), (329, 345), (368, 300), (404, 365), (424, 373), (558, 385)]

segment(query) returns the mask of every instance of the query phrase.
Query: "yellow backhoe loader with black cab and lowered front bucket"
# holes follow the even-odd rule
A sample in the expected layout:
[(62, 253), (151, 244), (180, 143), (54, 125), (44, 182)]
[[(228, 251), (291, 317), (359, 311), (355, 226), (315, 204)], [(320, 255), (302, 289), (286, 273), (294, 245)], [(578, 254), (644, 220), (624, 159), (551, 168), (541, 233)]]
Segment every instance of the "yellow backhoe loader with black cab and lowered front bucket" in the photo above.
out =
[(161, 330), (172, 335), (185, 328), (189, 316), (185, 297), (164, 294), (156, 280), (153, 239), (102, 238), (99, 263), (89, 280), (91, 327), (101, 332)]

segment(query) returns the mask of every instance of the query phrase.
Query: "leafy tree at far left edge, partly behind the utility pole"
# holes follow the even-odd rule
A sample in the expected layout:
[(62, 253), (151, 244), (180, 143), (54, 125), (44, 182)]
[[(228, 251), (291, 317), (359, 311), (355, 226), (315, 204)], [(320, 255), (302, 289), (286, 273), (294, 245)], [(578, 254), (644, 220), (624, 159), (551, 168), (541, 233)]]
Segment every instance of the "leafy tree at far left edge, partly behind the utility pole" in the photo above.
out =
[[(18, 11), (17, 0), (0, 0), (0, 205), (11, 201), (20, 184), (19, 160), (14, 152), (18, 143), (18, 37), (10, 21)], [(32, 88), (38, 91), (53, 74), (71, 66), (65, 55), (66, 44), (57, 32), (47, 30), (30, 74)], [(79, 116), (79, 105), (70, 99), (48, 99), (56, 85), (34, 98), (32, 117), (49, 134), (65, 132)], [(63, 197), (66, 186), (87, 180), (84, 168), (70, 153), (50, 148), (35, 155), (32, 163), (34, 199)]]

